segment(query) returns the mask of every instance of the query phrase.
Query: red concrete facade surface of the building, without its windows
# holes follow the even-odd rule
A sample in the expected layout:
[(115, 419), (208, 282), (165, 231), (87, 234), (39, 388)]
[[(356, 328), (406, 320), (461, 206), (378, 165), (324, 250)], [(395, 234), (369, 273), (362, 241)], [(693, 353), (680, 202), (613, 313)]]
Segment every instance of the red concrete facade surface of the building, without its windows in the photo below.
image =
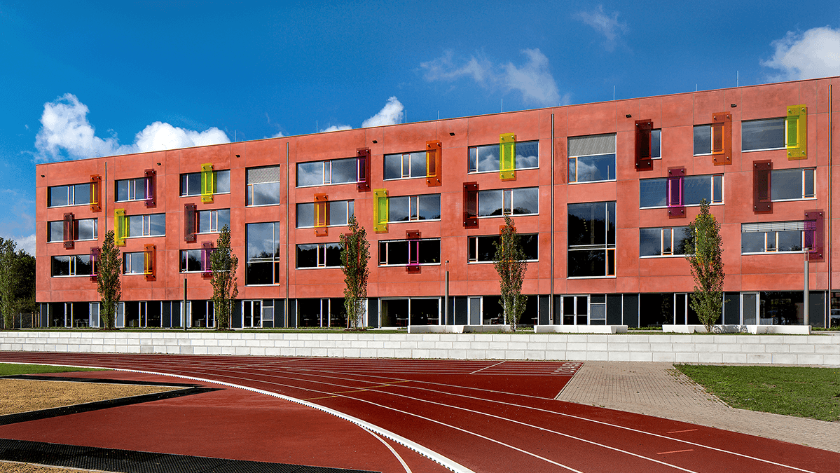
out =
[[(329, 201), (354, 201), (355, 216), (367, 230), (371, 243), (369, 297), (442, 297), (447, 267), (451, 296), (497, 295), (498, 278), (493, 265), (468, 263), (467, 239), (470, 235), (498, 234), (503, 219), (479, 218), (478, 228), (465, 228), (465, 182), (477, 182), (480, 190), (538, 187), (538, 215), (514, 217), (520, 233), (538, 234), (538, 261), (528, 263), (522, 286), (525, 294), (560, 297), (568, 294), (691, 292), (694, 282), (685, 258), (639, 257), (640, 228), (685, 226), (699, 212), (699, 207), (687, 206), (685, 218), (669, 218), (665, 208), (639, 208), (640, 180), (664, 178), (668, 176), (669, 168), (683, 167), (686, 176), (723, 175), (723, 202), (713, 205), (711, 212), (722, 223), (726, 292), (801, 292), (804, 280), (802, 252), (742, 255), (742, 223), (802, 221), (806, 211), (824, 212), (825, 255), (822, 260), (811, 261), (810, 289), (812, 293), (822, 294), (826, 304), (830, 304), (830, 297), (826, 297), (829, 271), (832, 289), (840, 289), (840, 263), (837, 262), (840, 249), (831, 244), (828, 236), (829, 229), (832, 239), (836, 240), (836, 235), (840, 234), (836, 217), (836, 209), (840, 207), (840, 186), (837, 185), (840, 165), (836, 158), (840, 151), (840, 133), (837, 133), (840, 88), (837, 86), (840, 86), (840, 78), (832, 77), (39, 165), (37, 301), (98, 300), (95, 282), (87, 276), (52, 276), (50, 260), (55, 255), (87, 255), (91, 247), (100, 246), (104, 234), (114, 228), (115, 208), (124, 208), (128, 215), (165, 213), (166, 221), (165, 236), (126, 239), (122, 250), (127, 252), (143, 251), (144, 245), (155, 245), (156, 274), (155, 281), (147, 281), (142, 275), (123, 276), (123, 301), (178, 301), (183, 297), (184, 277), (191, 300), (209, 299), (212, 290), (207, 278), (200, 273), (179, 272), (180, 251), (200, 249), (202, 242), (215, 242), (218, 234), (199, 234), (195, 243), (186, 243), (184, 206), (187, 203), (196, 204), (197, 210), (230, 209), (232, 246), (239, 256), (240, 299), (343, 297), (344, 276), (340, 269), (295, 268), (296, 244), (337, 242), (339, 234), (346, 231), (346, 227), (329, 227), (326, 236), (317, 236), (312, 228), (296, 229), (295, 204), (313, 202), (318, 193), (327, 194)], [(835, 89), (831, 102), (830, 87)], [(785, 149), (742, 151), (743, 121), (784, 117), (788, 106), (800, 104), (807, 107), (806, 159), (789, 160)], [(714, 113), (732, 115), (730, 165), (716, 166), (711, 155), (694, 155), (694, 126), (711, 124)], [(652, 169), (648, 171), (635, 169), (635, 122), (639, 119), (650, 119), (654, 129), (661, 129), (661, 159), (654, 159)], [(498, 172), (469, 173), (469, 147), (498, 144), (500, 134), (507, 133), (515, 134), (517, 142), (538, 140), (539, 168), (517, 170), (515, 181), (501, 181)], [(616, 134), (616, 178), (567, 183), (568, 138), (595, 134)], [(428, 187), (425, 178), (383, 180), (383, 155), (421, 151), (428, 141), (440, 141), (442, 146), (439, 187)], [(297, 163), (353, 158), (357, 150), (365, 148), (370, 149), (371, 189), (387, 189), (391, 197), (439, 193), (441, 218), (388, 223), (386, 233), (375, 233), (374, 192), (360, 192), (354, 183), (296, 187)], [(832, 155), (835, 156), (831, 171), (833, 182), (829, 182)], [(774, 202), (772, 213), (753, 212), (753, 161), (759, 160), (771, 160), (774, 170), (814, 169), (815, 197)], [(200, 196), (179, 197), (181, 174), (199, 172), (205, 163), (212, 163), (217, 171), (230, 170), (230, 193), (215, 195), (212, 203), (203, 203)], [(246, 169), (278, 165), (280, 203), (247, 206), (244, 197)], [(143, 177), (144, 170), (148, 169), (156, 172), (155, 208), (146, 208), (142, 200), (114, 202), (115, 180)], [(102, 176), (101, 212), (92, 212), (88, 205), (48, 207), (49, 187), (85, 183), (94, 175)], [(829, 202), (829, 187), (834, 189), (832, 202)], [(616, 274), (569, 278), (567, 206), (603, 201), (616, 202)], [(67, 212), (74, 213), (76, 219), (97, 218), (98, 241), (78, 241), (73, 249), (65, 249), (61, 242), (48, 243), (48, 222), (61, 220)], [(276, 285), (244, 284), (247, 260), (244, 229), (248, 223), (259, 222), (281, 223), (280, 283)], [(404, 266), (377, 265), (377, 240), (404, 239), (407, 230), (419, 231), (423, 239), (439, 238), (441, 264), (422, 265), (420, 271), (415, 272), (408, 272)], [(448, 265), (443, 263), (446, 260), (449, 260)], [(555, 298), (550, 307), (546, 304), (547, 307), (539, 308), (541, 319), (546, 308), (554, 312), (561, 310), (557, 300)], [(613, 300), (612, 303), (617, 302)], [(820, 311), (828, 313), (826, 307), (823, 305)], [(812, 314), (813, 310), (812, 307)], [(825, 322), (825, 319), (815, 321), (811, 316), (812, 324)], [(544, 323), (551, 323), (551, 320), (544, 318)]]

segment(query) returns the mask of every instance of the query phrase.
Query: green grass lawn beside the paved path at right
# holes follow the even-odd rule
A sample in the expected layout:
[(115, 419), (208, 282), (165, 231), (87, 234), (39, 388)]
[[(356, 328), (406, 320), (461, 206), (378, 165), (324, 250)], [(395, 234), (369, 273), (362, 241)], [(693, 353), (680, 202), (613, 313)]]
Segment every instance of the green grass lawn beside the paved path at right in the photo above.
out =
[(732, 407), (840, 421), (840, 369), (675, 365)]

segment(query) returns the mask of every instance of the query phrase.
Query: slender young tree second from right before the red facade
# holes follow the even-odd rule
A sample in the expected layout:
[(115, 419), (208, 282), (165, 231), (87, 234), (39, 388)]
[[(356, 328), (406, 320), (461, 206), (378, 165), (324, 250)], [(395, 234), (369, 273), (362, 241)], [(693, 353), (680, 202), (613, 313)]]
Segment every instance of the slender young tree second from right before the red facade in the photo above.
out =
[(528, 296), (522, 296), (522, 280), (528, 264), (525, 262), (525, 250), (522, 250), (520, 238), (517, 228), (513, 226), (513, 219), (505, 215), (505, 226), (501, 228), (499, 241), (493, 243), (496, 246), (493, 265), (499, 273), (500, 302), (505, 320), (514, 332), (517, 331), (519, 318), (525, 312), (525, 304), (528, 302)]

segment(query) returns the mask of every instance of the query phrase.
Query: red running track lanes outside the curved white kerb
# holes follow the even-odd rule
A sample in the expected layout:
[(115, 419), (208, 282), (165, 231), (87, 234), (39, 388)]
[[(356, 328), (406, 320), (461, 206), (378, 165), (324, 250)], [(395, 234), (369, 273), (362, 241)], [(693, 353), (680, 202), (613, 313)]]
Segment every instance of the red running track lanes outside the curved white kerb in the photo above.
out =
[(273, 393), (368, 423), (454, 470), (840, 471), (834, 452), (555, 401), (578, 363), (12, 352), (0, 361), (148, 371)]

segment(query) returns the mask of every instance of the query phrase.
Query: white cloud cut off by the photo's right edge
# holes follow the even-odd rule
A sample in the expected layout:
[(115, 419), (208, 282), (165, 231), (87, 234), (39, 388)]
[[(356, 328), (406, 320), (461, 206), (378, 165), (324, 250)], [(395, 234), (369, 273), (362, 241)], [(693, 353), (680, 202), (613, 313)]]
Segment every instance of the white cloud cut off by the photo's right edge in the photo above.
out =
[(782, 71), (773, 80), (840, 76), (840, 29), (826, 26), (801, 34), (789, 31), (771, 45), (775, 48), (773, 59), (761, 64)]

